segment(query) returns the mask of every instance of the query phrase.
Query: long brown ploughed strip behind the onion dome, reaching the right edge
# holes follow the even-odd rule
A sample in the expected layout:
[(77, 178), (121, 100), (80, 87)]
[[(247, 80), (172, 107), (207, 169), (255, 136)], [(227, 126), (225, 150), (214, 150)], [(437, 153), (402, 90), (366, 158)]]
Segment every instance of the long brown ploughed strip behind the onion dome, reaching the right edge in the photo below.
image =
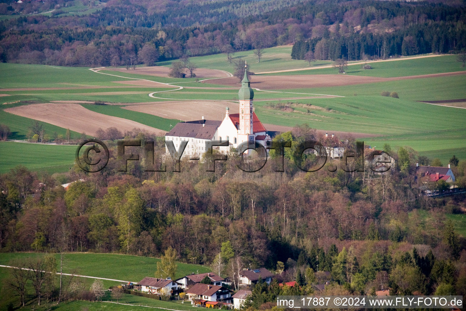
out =
[[(374, 76), (351, 75), (290, 75), (290, 76), (251, 76), (251, 87), (265, 90), (286, 90), (303, 88), (322, 88), (366, 83), (387, 82), (396, 80), (410, 80), (432, 78), (440, 76), (465, 75), (466, 71), (445, 72), (419, 76), (399, 76), (382, 78)], [(238, 78), (212, 79), (209, 83), (239, 87)]]

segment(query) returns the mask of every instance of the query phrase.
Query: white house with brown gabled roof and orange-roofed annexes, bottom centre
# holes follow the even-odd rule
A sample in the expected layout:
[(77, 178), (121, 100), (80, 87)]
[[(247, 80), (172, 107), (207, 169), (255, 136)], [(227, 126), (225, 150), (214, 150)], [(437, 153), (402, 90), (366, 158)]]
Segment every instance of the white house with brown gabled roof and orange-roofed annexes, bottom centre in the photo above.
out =
[(231, 303), (231, 290), (219, 286), (204, 283), (196, 283), (185, 290), (192, 304), (206, 305), (208, 302)]

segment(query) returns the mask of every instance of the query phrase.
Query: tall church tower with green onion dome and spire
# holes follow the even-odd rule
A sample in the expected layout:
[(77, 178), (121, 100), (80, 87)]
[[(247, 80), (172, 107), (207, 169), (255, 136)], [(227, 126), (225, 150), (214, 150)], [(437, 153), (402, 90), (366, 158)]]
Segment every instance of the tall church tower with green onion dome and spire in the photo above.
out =
[(249, 144), (254, 144), (254, 129), (253, 129), (253, 98), (254, 90), (251, 89), (251, 83), (247, 78), (247, 69), (244, 69), (244, 78), (241, 81), (241, 88), (238, 92), (240, 99), (240, 128), (238, 130), (238, 138), (240, 142), (249, 141)]

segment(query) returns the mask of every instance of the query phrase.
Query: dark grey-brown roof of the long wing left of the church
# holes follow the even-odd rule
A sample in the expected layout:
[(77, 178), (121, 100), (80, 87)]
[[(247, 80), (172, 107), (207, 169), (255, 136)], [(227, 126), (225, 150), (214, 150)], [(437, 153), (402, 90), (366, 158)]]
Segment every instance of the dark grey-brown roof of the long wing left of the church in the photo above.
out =
[[(205, 124), (202, 126), (202, 124)], [(198, 139), (212, 139), (222, 121), (196, 120), (176, 124), (166, 136), (190, 137)]]

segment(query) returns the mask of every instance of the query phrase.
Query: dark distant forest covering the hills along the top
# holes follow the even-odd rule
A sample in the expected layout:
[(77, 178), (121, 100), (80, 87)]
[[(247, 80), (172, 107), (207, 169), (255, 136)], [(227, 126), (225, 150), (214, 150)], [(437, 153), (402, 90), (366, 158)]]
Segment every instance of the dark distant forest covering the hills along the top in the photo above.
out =
[[(94, 2), (86, 3), (91, 6)], [(0, 14), (15, 16), (18, 5), (0, 3)], [(59, 10), (64, 3), (52, 5)], [(153, 65), (182, 55), (231, 53), (285, 44), (294, 44), (295, 59), (304, 59), (312, 51), (316, 59), (356, 60), (455, 53), (466, 48), (465, 38), (466, 11), (459, 1), (225, 0), (153, 4), (112, 0), (102, 9), (80, 16), (23, 14), (1, 20), (0, 60), (119, 66), (137, 59), (137, 63)]]

